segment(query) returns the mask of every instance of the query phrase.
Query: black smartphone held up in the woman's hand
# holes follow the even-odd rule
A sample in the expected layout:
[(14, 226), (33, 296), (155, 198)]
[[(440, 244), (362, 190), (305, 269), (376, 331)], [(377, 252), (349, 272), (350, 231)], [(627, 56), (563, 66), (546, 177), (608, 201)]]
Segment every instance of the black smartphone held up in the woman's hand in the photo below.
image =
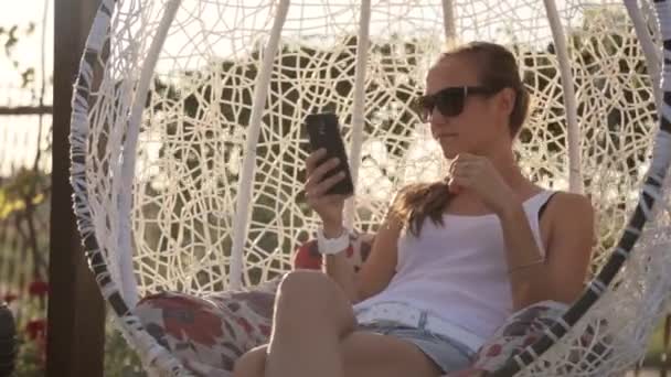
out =
[(329, 171), (324, 175), (324, 180), (339, 171), (344, 171), (345, 176), (333, 185), (329, 191), (328, 195), (340, 194), (351, 196), (354, 194), (354, 184), (352, 182), (352, 174), (350, 172), (350, 165), (348, 154), (344, 150), (344, 142), (340, 134), (340, 123), (338, 117), (332, 112), (310, 114), (306, 117), (305, 121), (306, 129), (308, 131), (308, 139), (310, 141), (310, 149), (316, 151), (320, 148), (327, 150), (326, 157), (317, 163), (319, 166), (324, 161), (331, 158), (338, 158), (340, 164)]

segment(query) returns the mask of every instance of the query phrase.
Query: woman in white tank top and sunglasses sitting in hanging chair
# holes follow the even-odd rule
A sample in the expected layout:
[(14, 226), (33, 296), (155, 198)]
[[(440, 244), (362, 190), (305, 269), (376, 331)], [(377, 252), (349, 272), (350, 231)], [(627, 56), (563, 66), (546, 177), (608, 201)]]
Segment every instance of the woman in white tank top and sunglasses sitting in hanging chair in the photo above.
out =
[(514, 311), (571, 303), (583, 289), (593, 208), (546, 191), (515, 163), (529, 96), (513, 55), (476, 42), (444, 53), (418, 104), (448, 176), (402, 188), (354, 274), (342, 255), (344, 197), (324, 195), (338, 161), (307, 161), (306, 194), (322, 219), (326, 273), (295, 271), (279, 287), (269, 344), (236, 377), (432, 377), (467, 367)]

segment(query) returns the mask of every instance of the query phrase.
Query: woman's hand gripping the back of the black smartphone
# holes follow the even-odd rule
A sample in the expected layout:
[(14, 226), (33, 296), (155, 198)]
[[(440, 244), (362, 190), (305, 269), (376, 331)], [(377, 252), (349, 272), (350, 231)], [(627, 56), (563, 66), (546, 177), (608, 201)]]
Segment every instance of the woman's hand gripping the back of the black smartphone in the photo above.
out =
[[(331, 231), (338, 233), (341, 230), (342, 209), (344, 207), (344, 200), (347, 196), (326, 194), (329, 188), (345, 177), (344, 171), (339, 170), (338, 174), (331, 175), (326, 180), (323, 179), (328, 172), (333, 169), (338, 169), (338, 166), (341, 164), (337, 158), (321, 162), (326, 154), (326, 149), (321, 148), (310, 153), (306, 160), (307, 180), (305, 191), (308, 205), (315, 209), (315, 212), (317, 212), (319, 217), (321, 217), (324, 231), (328, 234)], [(319, 162), (321, 163), (317, 165)]]

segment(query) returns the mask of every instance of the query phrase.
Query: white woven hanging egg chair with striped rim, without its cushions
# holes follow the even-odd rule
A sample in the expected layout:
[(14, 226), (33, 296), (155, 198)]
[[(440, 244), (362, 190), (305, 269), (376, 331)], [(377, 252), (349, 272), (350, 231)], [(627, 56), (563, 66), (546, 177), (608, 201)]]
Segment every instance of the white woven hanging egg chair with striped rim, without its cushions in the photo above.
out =
[(396, 190), (445, 173), (412, 101), (445, 46), (472, 40), (518, 57), (524, 172), (597, 213), (583, 297), (492, 375), (610, 376), (641, 358), (671, 297), (671, 1), (103, 0), (73, 98), (74, 211), (149, 371), (192, 373), (136, 315), (141, 298), (276, 280), (319, 226), (308, 114), (340, 118), (361, 233)]

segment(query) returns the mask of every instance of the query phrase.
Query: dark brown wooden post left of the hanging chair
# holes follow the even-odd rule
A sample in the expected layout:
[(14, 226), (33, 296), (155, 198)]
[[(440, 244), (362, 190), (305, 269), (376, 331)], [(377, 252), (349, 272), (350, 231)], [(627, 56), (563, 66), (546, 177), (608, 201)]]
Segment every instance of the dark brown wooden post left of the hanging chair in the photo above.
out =
[(56, 0), (46, 375), (103, 376), (105, 304), (82, 251), (70, 186), (72, 88), (99, 1)]

